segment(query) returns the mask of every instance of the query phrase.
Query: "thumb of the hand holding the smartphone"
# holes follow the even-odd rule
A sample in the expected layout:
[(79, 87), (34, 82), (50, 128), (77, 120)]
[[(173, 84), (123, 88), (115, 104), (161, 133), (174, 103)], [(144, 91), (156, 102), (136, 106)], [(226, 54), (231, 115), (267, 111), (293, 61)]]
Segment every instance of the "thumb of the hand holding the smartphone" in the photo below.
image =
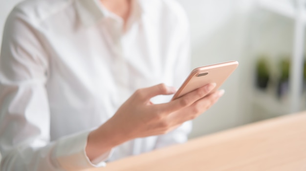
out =
[(166, 86), (165, 84), (158, 84), (152, 87), (139, 89), (137, 93), (142, 97), (142, 100), (150, 100), (156, 95), (172, 95), (176, 92), (175, 87)]

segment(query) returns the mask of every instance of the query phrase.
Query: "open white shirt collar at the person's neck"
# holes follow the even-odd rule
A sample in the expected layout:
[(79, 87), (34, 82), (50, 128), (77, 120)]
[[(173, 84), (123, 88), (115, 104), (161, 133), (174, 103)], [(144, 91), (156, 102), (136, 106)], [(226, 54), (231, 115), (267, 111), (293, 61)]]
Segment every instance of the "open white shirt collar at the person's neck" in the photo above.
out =
[[(107, 10), (99, 0), (75, 0), (79, 18), (85, 26), (95, 24), (99, 20), (113, 17), (114, 14)], [(132, 0), (132, 11), (130, 18), (140, 18), (144, 13), (141, 0)]]

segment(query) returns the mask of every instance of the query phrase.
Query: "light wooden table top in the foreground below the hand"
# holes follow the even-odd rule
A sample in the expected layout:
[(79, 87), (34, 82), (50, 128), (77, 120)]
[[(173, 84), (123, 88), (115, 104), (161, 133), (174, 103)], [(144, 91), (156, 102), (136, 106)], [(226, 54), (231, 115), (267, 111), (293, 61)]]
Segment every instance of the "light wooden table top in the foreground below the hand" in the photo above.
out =
[(306, 112), (200, 137), (90, 171), (306, 171)]

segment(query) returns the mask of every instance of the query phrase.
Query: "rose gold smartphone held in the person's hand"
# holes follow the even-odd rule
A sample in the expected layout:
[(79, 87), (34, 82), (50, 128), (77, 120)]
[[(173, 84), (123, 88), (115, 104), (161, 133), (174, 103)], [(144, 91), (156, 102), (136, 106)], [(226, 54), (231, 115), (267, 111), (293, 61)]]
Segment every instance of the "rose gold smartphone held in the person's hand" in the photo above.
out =
[(182, 86), (177, 90), (172, 100), (209, 83), (215, 82), (217, 84), (211, 93), (217, 91), (222, 83), (235, 71), (237, 67), (238, 61), (229, 61), (194, 69)]

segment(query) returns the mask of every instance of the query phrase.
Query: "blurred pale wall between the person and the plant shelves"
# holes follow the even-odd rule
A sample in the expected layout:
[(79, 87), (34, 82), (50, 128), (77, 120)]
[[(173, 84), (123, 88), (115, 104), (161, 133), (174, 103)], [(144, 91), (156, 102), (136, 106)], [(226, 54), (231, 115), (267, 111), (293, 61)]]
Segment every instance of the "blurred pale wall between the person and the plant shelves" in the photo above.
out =
[(229, 60), (240, 66), (223, 84), (225, 95), (207, 112), (194, 120), (190, 137), (232, 128), (251, 121), (247, 91), (241, 78), (246, 68), (250, 18), (254, 0), (179, 0), (190, 19), (192, 67)]

